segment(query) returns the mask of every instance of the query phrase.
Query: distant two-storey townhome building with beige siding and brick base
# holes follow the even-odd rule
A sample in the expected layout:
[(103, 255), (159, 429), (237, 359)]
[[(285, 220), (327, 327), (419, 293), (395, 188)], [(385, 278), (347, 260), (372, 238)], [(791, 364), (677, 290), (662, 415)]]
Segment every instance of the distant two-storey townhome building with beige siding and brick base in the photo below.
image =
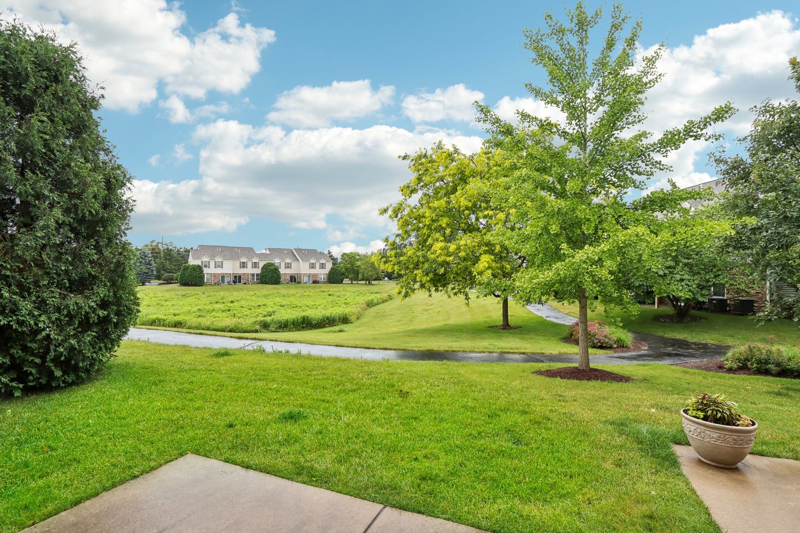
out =
[(198, 245), (189, 250), (189, 264), (201, 265), (206, 284), (261, 282), (264, 263), (274, 263), (282, 283), (327, 283), (330, 257), (308, 248), (266, 248), (256, 252), (246, 246)]

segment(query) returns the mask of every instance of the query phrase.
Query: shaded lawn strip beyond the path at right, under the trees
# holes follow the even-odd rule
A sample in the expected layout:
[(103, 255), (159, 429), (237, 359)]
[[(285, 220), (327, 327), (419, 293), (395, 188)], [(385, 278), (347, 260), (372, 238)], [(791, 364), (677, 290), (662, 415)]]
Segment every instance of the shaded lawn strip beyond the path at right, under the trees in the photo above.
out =
[[(553, 308), (578, 316), (578, 304), (566, 305), (550, 302)], [(670, 314), (670, 308), (654, 308), (642, 305), (636, 317), (627, 316), (624, 312), (613, 311), (612, 317), (622, 320), (622, 326), (633, 332), (653, 333), (654, 335), (676, 337), (678, 339), (698, 340), (714, 344), (746, 344), (748, 342), (766, 342), (774, 340), (776, 344), (800, 345), (800, 328), (792, 320), (775, 320), (759, 326), (753, 318), (738, 315), (723, 315), (714, 312), (694, 311), (692, 316), (706, 320), (688, 324), (668, 324), (656, 322), (654, 316)], [(590, 313), (590, 320), (604, 320), (602, 308)]]

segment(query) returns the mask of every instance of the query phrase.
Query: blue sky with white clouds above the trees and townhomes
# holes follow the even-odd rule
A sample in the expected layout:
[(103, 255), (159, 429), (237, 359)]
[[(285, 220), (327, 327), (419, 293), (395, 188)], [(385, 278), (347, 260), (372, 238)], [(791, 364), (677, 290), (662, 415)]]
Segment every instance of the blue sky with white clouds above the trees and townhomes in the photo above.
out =
[[(565, 2), (186, 2), (0, 0), (86, 56), (106, 86), (103, 125), (136, 177), (130, 240), (178, 245), (374, 249), (377, 209), (410, 177), (396, 156), (439, 138), (476, 149), (475, 99), (542, 112), (522, 29)], [(598, 2), (588, 2), (590, 8)], [(606, 5), (606, 8), (609, 6)], [(665, 42), (647, 104), (658, 130), (726, 100), (792, 96), (794, 2), (626, 2), (643, 50)], [(794, 7), (796, 10), (796, 7)], [(722, 130), (746, 132), (739, 113)], [(714, 177), (710, 146), (667, 177)]]

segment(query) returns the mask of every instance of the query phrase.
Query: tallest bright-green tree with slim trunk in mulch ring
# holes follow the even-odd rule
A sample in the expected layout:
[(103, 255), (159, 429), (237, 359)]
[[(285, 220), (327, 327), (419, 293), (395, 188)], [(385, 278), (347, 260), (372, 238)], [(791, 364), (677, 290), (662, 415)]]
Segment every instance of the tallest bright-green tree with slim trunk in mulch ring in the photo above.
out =
[(498, 229), (498, 243), (527, 258), (514, 275), (525, 300), (578, 302), (578, 367), (590, 368), (588, 312), (597, 304), (635, 312), (631, 287), (649, 275), (642, 251), (657, 213), (676, 213), (690, 193), (673, 188), (629, 201), (646, 178), (670, 169), (665, 158), (689, 140), (713, 140), (708, 129), (733, 113), (722, 105), (655, 137), (642, 130), (646, 93), (658, 83), (662, 47), (641, 54), (642, 22), (631, 23), (614, 4), (606, 31), (594, 41), (602, 10), (582, 3), (566, 22), (546, 14), (545, 26), (526, 30), (531, 62), (547, 85), (526, 88), (558, 120), (518, 112), (503, 121), (480, 105), (492, 134), (488, 146), (507, 157), (507, 177), (495, 201), (520, 229)]

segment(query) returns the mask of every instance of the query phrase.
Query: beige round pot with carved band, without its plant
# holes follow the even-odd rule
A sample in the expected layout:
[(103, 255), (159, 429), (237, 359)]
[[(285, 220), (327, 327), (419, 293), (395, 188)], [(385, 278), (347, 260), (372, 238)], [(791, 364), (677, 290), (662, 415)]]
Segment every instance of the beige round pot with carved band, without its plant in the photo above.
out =
[(687, 415), (685, 409), (681, 410), (681, 416), (683, 431), (689, 437), (689, 443), (705, 463), (715, 467), (735, 468), (753, 447), (755, 430), (758, 429), (755, 420), (750, 428), (738, 428), (699, 420)]

